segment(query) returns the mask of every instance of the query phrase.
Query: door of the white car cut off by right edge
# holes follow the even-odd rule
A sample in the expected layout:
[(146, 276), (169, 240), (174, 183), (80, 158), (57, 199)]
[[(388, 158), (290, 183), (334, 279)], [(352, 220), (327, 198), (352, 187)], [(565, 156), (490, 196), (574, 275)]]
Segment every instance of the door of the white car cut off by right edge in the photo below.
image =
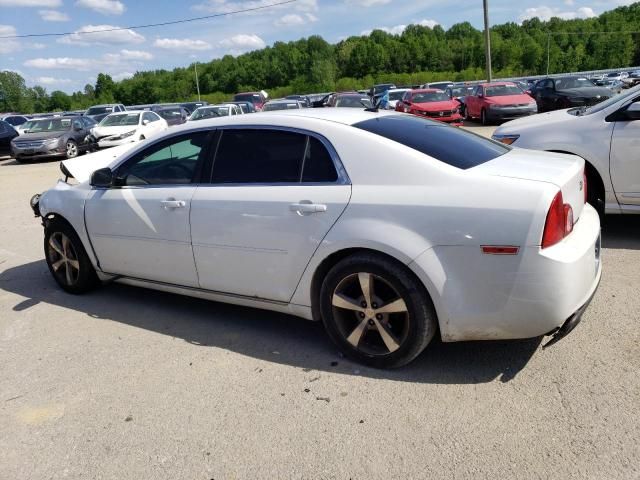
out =
[(622, 205), (640, 205), (640, 120), (617, 121), (611, 136), (610, 172)]

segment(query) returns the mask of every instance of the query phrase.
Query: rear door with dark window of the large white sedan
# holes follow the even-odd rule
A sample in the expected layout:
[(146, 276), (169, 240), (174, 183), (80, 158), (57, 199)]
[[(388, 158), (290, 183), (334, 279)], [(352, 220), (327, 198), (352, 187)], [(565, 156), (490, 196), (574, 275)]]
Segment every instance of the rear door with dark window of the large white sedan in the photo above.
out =
[(313, 134), (223, 129), (211, 183), (192, 200), (200, 286), (288, 301), (351, 186), (333, 148)]

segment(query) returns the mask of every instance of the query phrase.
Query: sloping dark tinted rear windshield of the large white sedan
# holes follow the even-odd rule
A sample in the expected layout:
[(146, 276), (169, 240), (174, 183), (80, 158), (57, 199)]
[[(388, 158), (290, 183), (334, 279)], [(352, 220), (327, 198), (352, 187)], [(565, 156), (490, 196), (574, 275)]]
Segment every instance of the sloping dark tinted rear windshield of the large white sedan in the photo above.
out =
[(381, 116), (353, 126), (463, 170), (481, 165), (511, 150), (506, 145), (480, 135), (413, 115)]

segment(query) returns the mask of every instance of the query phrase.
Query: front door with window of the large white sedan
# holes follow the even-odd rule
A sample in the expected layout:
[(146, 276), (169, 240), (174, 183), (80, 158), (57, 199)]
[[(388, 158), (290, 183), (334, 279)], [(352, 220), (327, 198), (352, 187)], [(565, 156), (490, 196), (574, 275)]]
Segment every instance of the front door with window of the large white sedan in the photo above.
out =
[(115, 187), (92, 192), (86, 224), (103, 271), (198, 285), (189, 215), (208, 142), (198, 132), (155, 143), (114, 172)]

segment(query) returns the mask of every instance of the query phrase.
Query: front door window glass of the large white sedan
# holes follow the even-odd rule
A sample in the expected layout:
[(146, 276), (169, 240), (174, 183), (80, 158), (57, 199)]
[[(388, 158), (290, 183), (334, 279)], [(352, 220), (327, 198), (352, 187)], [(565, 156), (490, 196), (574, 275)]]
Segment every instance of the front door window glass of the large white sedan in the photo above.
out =
[(208, 138), (207, 132), (197, 132), (152, 145), (118, 169), (118, 183), (123, 186), (192, 183)]

